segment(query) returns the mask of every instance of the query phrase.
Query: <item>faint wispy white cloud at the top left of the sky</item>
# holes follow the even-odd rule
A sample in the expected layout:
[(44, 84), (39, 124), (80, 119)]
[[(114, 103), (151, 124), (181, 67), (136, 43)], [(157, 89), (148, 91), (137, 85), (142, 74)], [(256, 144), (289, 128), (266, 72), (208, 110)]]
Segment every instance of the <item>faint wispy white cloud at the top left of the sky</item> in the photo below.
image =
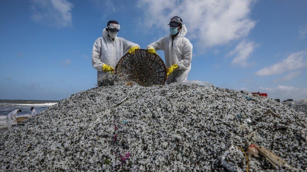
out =
[(67, 0), (33, 0), (31, 18), (57, 28), (71, 27), (73, 7)]

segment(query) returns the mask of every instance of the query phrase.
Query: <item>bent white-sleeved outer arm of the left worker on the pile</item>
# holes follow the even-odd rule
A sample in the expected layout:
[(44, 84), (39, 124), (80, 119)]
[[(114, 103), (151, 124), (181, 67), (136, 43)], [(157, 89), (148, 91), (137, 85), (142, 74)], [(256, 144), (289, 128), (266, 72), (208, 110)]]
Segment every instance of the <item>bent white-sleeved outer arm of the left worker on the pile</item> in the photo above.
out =
[(101, 55), (101, 38), (96, 39), (92, 50), (92, 65), (96, 70), (103, 71), (103, 62), (100, 59)]

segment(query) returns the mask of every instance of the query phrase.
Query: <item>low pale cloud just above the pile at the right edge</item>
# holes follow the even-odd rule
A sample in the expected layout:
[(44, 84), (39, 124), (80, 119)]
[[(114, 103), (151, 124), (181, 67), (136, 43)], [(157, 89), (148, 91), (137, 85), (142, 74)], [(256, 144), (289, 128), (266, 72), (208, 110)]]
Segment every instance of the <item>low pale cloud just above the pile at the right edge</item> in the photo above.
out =
[(299, 100), (307, 97), (307, 89), (306, 88), (296, 88), (293, 86), (276, 86), (273, 88), (263, 88), (260, 87), (261, 91), (268, 93), (268, 96), (273, 99), (293, 99)]

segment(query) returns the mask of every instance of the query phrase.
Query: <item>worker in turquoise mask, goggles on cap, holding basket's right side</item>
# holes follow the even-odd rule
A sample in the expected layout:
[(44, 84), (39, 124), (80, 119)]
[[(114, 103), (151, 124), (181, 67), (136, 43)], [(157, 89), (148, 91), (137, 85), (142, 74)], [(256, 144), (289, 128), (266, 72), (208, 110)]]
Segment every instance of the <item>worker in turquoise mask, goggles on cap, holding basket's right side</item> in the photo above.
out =
[(167, 67), (167, 84), (183, 82), (191, 70), (193, 45), (184, 36), (187, 28), (180, 17), (170, 19), (170, 34), (147, 46), (149, 53), (157, 54), (155, 50), (164, 50)]

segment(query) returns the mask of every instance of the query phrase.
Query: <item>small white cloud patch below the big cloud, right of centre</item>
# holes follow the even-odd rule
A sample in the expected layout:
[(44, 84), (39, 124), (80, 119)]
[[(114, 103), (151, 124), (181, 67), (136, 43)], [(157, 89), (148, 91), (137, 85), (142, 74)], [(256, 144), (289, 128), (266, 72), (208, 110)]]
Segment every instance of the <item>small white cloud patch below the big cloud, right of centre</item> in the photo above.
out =
[(235, 55), (232, 59), (232, 65), (248, 66), (247, 59), (258, 45), (254, 42), (243, 40), (237, 47), (230, 52), (230, 55)]

